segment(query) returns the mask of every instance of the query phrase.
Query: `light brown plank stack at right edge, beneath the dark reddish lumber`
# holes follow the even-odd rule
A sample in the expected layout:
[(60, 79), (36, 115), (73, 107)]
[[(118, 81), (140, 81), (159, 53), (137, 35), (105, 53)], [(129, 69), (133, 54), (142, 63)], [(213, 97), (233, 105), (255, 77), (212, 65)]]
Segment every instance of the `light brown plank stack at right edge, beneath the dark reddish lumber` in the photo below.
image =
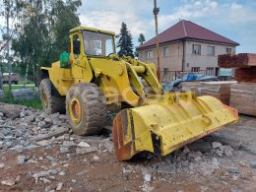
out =
[(231, 85), (230, 106), (236, 108), (239, 113), (256, 116), (256, 84)]

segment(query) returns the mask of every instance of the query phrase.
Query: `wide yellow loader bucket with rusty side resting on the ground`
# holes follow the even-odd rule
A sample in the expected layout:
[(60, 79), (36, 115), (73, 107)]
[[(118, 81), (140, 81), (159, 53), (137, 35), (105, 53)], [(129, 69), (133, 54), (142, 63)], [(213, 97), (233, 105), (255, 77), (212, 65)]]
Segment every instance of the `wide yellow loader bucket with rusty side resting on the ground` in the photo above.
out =
[(113, 122), (117, 159), (144, 151), (165, 156), (238, 120), (237, 110), (215, 97), (185, 95), (120, 111)]

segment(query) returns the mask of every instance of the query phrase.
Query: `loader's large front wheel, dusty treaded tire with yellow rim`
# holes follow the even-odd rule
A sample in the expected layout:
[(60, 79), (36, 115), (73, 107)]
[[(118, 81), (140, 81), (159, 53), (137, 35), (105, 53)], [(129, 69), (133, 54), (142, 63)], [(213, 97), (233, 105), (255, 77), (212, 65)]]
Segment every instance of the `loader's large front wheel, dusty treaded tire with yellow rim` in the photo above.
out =
[(67, 116), (77, 135), (94, 135), (106, 124), (107, 109), (96, 84), (79, 83), (66, 97)]

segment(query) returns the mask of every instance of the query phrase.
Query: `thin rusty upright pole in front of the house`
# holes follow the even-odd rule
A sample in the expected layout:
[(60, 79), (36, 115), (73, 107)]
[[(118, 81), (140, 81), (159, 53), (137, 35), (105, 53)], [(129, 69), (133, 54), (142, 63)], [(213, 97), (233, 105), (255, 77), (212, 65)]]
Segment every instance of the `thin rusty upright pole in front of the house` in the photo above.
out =
[(155, 15), (155, 25), (156, 25), (156, 41), (157, 41), (157, 57), (158, 57), (158, 78), (160, 81), (160, 42), (159, 42), (159, 22), (158, 15), (160, 13), (160, 8), (158, 8), (157, 0), (154, 0), (154, 10)]

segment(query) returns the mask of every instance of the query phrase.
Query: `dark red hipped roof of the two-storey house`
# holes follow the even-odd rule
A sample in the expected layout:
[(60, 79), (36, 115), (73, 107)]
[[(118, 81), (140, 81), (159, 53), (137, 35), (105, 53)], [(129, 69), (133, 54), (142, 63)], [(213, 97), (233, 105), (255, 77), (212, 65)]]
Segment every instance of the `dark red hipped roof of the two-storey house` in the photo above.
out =
[[(181, 40), (184, 38), (213, 41), (235, 46), (239, 45), (239, 43), (230, 40), (221, 34), (212, 32), (198, 26), (197, 24), (194, 24), (193, 22), (185, 20), (181, 20), (174, 26), (159, 34), (160, 44), (169, 41)], [(147, 48), (149, 46), (156, 45), (156, 43), (156, 37), (154, 37), (145, 42), (142, 46), (138, 47), (138, 49)]]

